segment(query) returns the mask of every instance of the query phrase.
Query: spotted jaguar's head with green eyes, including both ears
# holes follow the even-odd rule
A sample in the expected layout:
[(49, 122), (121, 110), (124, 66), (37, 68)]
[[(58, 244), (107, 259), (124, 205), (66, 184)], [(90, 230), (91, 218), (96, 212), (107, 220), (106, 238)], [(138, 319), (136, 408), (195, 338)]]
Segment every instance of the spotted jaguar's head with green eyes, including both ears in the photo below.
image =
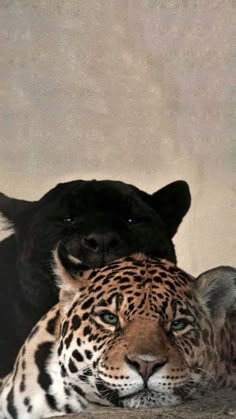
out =
[(60, 246), (55, 270), (61, 374), (87, 400), (166, 406), (216, 384), (223, 371), (217, 337), (236, 299), (232, 275), (226, 283), (195, 280), (141, 254), (83, 275)]

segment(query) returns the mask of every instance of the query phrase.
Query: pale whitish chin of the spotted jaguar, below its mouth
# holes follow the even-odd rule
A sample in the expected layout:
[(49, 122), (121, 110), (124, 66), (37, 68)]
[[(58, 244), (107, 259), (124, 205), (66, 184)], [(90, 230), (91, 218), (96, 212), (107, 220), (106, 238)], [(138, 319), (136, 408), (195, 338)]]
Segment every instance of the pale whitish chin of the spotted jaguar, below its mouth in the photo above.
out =
[(160, 393), (153, 390), (142, 390), (119, 399), (119, 406), (131, 409), (174, 406), (181, 403), (175, 394)]

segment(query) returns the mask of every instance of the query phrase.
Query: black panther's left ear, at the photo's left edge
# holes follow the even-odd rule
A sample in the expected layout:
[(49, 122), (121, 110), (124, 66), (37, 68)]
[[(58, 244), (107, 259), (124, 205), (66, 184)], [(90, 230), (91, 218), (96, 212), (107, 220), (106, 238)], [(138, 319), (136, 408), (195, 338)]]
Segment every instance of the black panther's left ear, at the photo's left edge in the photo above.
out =
[(13, 226), (19, 214), (29, 210), (33, 205), (33, 201), (10, 198), (0, 192), (0, 213)]

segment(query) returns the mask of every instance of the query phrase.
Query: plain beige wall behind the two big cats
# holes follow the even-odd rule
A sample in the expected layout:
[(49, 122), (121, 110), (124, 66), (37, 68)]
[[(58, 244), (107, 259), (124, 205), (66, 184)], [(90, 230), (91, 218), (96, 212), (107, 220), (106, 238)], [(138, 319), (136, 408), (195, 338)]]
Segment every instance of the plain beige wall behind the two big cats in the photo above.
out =
[(186, 179), (175, 243), (196, 274), (236, 265), (234, 0), (1, 0), (0, 191), (59, 181), (154, 191)]

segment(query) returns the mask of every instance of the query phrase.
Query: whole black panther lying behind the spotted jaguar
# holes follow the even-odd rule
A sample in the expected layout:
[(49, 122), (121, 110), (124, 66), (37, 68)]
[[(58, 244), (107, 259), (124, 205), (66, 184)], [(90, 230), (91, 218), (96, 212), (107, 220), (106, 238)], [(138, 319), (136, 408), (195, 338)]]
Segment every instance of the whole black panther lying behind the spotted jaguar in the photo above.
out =
[(137, 251), (176, 262), (171, 239), (189, 207), (184, 181), (152, 195), (118, 181), (81, 180), (59, 184), (36, 202), (0, 194), (0, 212), (15, 232), (0, 243), (0, 376), (57, 301), (51, 260), (59, 242), (81, 269)]

